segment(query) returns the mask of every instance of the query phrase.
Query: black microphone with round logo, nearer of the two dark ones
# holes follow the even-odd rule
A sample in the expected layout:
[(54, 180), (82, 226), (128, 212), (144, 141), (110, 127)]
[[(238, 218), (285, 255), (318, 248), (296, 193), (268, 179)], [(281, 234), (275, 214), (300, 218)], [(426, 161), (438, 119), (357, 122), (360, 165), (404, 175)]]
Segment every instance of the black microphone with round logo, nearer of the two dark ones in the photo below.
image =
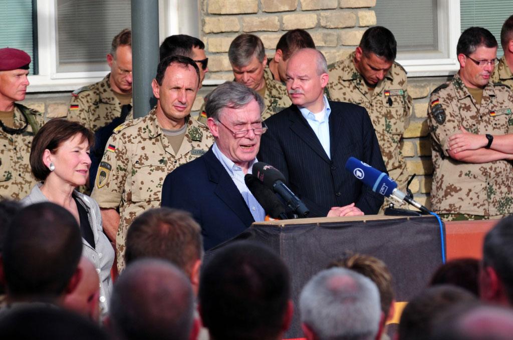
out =
[(283, 198), (287, 207), (295, 214), (300, 217), (306, 217), (310, 213), (306, 205), (301, 202), (301, 199), (294, 195), (284, 184), (285, 177), (278, 169), (263, 162), (257, 162), (253, 164), (252, 170), (253, 174), (256, 175), (267, 188), (272, 189)]

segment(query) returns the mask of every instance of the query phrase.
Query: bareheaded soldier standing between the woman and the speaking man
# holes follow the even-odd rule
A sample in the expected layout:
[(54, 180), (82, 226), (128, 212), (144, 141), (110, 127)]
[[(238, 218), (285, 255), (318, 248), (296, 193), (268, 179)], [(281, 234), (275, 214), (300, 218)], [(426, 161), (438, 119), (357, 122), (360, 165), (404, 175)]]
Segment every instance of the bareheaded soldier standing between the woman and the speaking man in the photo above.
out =
[(201, 156), (213, 143), (208, 128), (189, 115), (199, 74), (188, 57), (161, 61), (152, 83), (156, 107), (146, 117), (117, 127), (107, 143), (91, 196), (102, 208), (107, 236), (116, 239), (120, 270), (133, 219), (160, 206), (162, 183), (169, 172)]

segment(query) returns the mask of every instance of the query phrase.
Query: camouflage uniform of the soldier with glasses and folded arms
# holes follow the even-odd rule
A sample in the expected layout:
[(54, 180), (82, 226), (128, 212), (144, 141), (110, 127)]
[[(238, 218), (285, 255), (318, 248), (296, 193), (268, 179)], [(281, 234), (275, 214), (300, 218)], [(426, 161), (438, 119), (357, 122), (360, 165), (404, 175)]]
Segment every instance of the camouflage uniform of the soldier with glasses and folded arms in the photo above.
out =
[(489, 83), (481, 106), (462, 83), (459, 74), (436, 88), (429, 98), (428, 123), (435, 166), (431, 207), (444, 214), (497, 216), (513, 212), (513, 167), (508, 161), (482, 164), (450, 158), (448, 137), (463, 126), (471, 133), (513, 133), (513, 92)]

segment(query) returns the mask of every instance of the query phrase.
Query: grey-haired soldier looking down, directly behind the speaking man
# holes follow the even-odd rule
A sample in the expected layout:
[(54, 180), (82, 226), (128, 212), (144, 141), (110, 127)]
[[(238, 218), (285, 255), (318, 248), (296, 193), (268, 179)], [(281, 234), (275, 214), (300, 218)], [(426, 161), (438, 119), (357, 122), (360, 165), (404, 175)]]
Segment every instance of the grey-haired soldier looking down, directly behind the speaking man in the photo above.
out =
[[(241, 34), (230, 44), (228, 50), (234, 81), (253, 89), (264, 98), (265, 110), (262, 119), (288, 108), (292, 102), (287, 95), (287, 88), (274, 81), (272, 72), (266, 68), (264, 44), (253, 34)], [(207, 122), (205, 104), (198, 117), (202, 123)]]

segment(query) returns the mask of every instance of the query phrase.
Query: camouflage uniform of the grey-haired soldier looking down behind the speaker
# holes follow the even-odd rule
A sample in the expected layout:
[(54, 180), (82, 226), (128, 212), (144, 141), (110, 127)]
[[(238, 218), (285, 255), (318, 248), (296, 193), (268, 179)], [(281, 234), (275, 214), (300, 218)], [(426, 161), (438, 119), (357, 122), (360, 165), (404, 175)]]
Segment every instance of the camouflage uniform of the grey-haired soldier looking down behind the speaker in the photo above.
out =
[[(287, 95), (287, 88), (281, 83), (277, 82), (272, 77), (271, 70), (266, 67), (264, 70), (265, 80), (265, 96), (264, 96), (264, 112), (262, 112), (262, 119), (265, 120), (272, 116), (274, 113), (278, 113), (288, 108), (292, 102)], [(207, 114), (205, 112), (205, 103), (200, 109), (200, 115), (198, 120), (204, 124), (207, 122)]]

